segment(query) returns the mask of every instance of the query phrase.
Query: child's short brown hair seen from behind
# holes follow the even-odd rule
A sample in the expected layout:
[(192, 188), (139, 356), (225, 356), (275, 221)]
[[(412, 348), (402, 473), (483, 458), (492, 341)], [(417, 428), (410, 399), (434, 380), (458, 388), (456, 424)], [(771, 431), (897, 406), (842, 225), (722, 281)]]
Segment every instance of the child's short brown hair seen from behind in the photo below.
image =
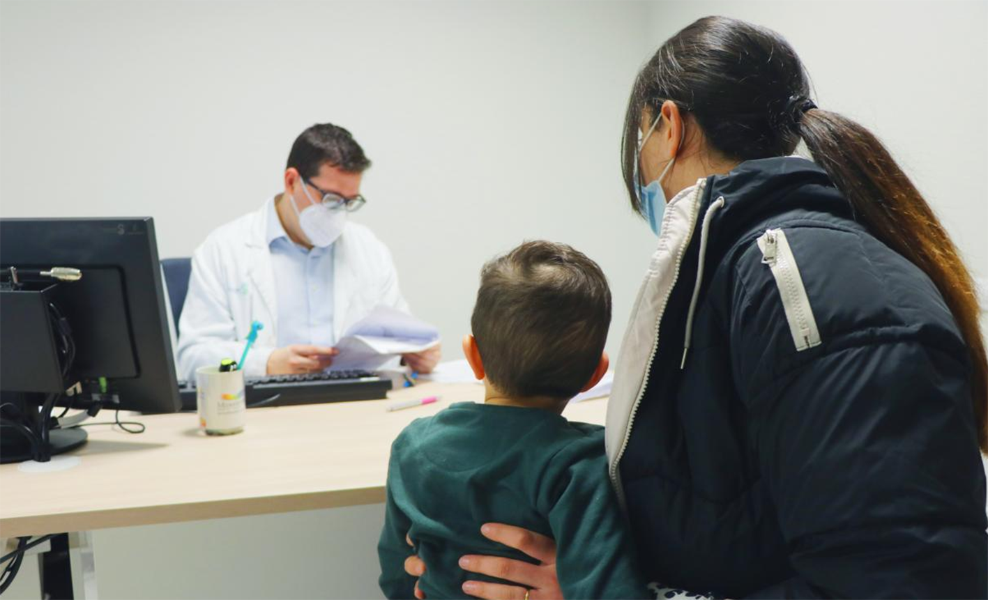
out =
[(600, 363), (611, 288), (583, 253), (526, 242), (484, 264), (470, 326), (498, 391), (514, 399), (568, 400)]

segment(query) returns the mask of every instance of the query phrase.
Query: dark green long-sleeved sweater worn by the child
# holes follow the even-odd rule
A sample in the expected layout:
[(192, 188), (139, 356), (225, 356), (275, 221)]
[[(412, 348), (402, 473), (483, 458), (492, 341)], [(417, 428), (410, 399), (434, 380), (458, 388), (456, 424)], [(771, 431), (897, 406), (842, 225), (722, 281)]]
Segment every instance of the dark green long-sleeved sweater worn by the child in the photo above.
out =
[(391, 600), (414, 598), (404, 572), (413, 554), (427, 565), (419, 586), (429, 600), (471, 598), (460, 588), (467, 579), (497, 581), (462, 570), (462, 555), (532, 562), (480, 535), (487, 522), (554, 538), (566, 600), (654, 598), (634, 561), (599, 425), (473, 403), (416, 419), (391, 446), (385, 510), (377, 553)]

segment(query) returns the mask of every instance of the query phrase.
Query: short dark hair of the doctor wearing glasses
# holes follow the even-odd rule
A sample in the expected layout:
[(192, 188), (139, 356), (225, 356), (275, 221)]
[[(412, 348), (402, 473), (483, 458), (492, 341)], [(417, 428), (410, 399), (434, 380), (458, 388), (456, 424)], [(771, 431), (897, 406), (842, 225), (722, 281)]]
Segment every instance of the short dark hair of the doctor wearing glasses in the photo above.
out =
[(319, 175), (319, 168), (324, 164), (346, 173), (364, 173), (371, 161), (350, 131), (332, 123), (321, 123), (295, 138), (286, 169), (293, 167), (303, 178), (311, 179)]

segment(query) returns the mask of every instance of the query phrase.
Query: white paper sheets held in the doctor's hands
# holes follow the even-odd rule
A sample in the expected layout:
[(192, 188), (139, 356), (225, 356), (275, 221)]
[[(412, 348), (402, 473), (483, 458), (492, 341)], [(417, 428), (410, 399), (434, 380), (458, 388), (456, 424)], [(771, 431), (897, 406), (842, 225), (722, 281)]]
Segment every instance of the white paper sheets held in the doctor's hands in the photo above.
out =
[(439, 344), (439, 330), (401, 311), (376, 306), (336, 343), (333, 369), (376, 369), (399, 354)]

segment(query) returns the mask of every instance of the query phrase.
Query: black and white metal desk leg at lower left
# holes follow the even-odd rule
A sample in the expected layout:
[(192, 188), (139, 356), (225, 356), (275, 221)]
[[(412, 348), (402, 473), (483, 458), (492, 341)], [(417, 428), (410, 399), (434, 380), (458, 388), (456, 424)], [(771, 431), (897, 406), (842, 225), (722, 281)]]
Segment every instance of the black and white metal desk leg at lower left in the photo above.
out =
[(61, 534), (51, 540), (50, 552), (41, 557), (41, 598), (96, 600), (92, 533)]

